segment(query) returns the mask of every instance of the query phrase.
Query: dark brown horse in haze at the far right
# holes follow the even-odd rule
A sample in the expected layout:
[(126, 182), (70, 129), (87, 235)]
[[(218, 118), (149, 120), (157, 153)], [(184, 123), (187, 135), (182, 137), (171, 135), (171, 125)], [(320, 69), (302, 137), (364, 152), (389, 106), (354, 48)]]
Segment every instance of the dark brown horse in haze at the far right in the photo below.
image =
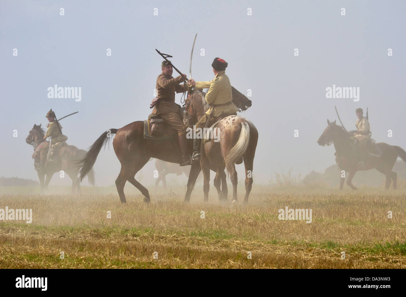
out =
[[(323, 134), (320, 136), (317, 143), (324, 146), (334, 144), (336, 151), (336, 162), (341, 170), (349, 172), (347, 185), (353, 190), (357, 188), (352, 184), (352, 178), (358, 169), (358, 159), (354, 154), (354, 148), (352, 143), (354, 138), (341, 126), (338, 126), (334, 122), (327, 120), (328, 126), (324, 129)], [(393, 165), (395, 165), (397, 157), (401, 157), (406, 162), (406, 152), (399, 146), (389, 145), (384, 142), (379, 142), (376, 145), (381, 149), (382, 156), (376, 157), (374, 155), (368, 155), (365, 158), (364, 167), (362, 170), (370, 170), (375, 168), (386, 177), (386, 188), (389, 189), (391, 181), (393, 181), (393, 189), (397, 186), (397, 174), (392, 171)], [(343, 189), (345, 177), (341, 177), (340, 189)]]

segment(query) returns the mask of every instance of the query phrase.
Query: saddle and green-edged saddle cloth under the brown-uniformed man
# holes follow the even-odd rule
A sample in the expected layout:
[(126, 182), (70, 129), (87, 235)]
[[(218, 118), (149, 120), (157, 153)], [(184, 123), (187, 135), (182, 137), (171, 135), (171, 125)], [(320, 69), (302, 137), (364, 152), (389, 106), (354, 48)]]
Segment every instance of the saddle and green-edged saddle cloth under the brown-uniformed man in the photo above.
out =
[(177, 132), (165, 124), (164, 120), (156, 114), (150, 114), (148, 120), (144, 120), (144, 139), (171, 140)]

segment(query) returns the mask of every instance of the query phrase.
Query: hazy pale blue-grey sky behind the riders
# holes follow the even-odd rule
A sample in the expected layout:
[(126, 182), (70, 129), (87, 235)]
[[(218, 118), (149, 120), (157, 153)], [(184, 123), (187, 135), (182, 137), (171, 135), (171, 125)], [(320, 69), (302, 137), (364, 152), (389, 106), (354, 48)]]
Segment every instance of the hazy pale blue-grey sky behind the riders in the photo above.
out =
[[(347, 130), (355, 129), (355, 109), (368, 107), (372, 137), (406, 149), (405, 13), (404, 1), (2, 0), (0, 176), (37, 179), (25, 138), (34, 124), (47, 123), (50, 108), (58, 117), (79, 111), (61, 124), (67, 142), (83, 149), (106, 129), (147, 118), (161, 72), (155, 48), (188, 74), (196, 33), (194, 79), (212, 80), (210, 65), (220, 57), (231, 84), (252, 90), (253, 105), (240, 115), (259, 131), (254, 183), (282, 169), (304, 176), (333, 164), (333, 146), (316, 141), (326, 119), (337, 118), (334, 105)], [(81, 87), (81, 101), (49, 99), (54, 84)], [(327, 99), (333, 84), (359, 87), (359, 101)], [(144, 183), (153, 165), (143, 168)], [(241, 179), (243, 165), (237, 168)], [(114, 184), (119, 169), (110, 144), (95, 164), (97, 185)], [(71, 181), (55, 175), (51, 184), (58, 183)]]

